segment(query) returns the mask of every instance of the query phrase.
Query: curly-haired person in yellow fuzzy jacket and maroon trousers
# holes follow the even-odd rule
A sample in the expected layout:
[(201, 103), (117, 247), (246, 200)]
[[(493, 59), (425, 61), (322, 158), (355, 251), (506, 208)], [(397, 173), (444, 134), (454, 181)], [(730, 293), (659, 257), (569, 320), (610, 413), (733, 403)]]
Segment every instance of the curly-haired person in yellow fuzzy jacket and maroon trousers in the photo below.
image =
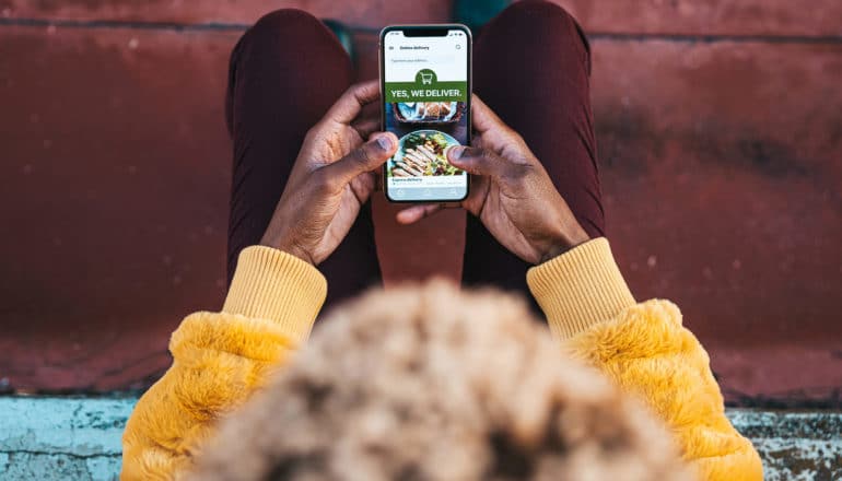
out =
[(678, 308), (638, 303), (613, 260), (589, 70), (581, 28), (548, 2), (515, 3), (477, 39), (475, 140), (448, 151), (472, 175), (463, 284), (514, 294), (434, 282), (359, 297), (379, 282), (374, 172), (398, 146), (366, 108), (378, 85), (350, 85), (304, 12), (249, 28), (226, 103), (230, 290), (173, 333), (121, 478), (762, 479)]

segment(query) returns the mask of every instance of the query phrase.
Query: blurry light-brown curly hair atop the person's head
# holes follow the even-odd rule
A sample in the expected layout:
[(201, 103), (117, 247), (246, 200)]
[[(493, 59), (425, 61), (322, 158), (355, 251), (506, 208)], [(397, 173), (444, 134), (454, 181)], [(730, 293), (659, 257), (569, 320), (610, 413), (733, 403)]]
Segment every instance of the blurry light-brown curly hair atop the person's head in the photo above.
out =
[(688, 479), (636, 401), (526, 303), (433, 281), (336, 308), (222, 423), (201, 480)]

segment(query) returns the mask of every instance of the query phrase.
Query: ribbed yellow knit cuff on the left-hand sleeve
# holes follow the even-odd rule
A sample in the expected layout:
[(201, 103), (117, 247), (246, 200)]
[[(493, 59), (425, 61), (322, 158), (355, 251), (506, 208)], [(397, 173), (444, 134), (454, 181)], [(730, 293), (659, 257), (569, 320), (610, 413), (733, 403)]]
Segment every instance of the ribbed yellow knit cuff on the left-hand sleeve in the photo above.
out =
[(297, 257), (265, 246), (239, 253), (223, 313), (270, 319), (290, 338), (307, 338), (327, 296), (327, 281)]

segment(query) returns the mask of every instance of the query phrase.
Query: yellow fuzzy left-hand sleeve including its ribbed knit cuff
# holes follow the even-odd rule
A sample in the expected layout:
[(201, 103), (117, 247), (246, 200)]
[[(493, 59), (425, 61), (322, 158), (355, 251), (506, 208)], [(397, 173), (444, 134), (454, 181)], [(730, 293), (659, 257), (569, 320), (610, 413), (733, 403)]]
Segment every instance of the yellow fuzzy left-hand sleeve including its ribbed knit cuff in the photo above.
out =
[(122, 480), (177, 479), (217, 422), (259, 389), (309, 333), (325, 278), (268, 247), (241, 254), (221, 313), (196, 313), (169, 341), (173, 365), (138, 401), (122, 436)]

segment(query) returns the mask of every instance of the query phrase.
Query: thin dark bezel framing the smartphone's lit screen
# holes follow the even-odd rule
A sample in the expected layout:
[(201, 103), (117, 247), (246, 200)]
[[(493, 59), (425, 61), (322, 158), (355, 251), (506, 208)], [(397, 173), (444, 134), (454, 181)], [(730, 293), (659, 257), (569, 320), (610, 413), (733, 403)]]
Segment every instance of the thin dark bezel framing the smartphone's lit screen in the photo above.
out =
[[(378, 43), (378, 61), (377, 61), (377, 68), (379, 70), (379, 85), (381, 85), (381, 130), (386, 130), (386, 102), (385, 102), (385, 87), (386, 87), (386, 77), (383, 69), (383, 60), (385, 56), (385, 47), (386, 44), (384, 42), (384, 38), (387, 33), (400, 31), (404, 32), (407, 36), (416, 36), (416, 37), (424, 37), (424, 36), (438, 36), (438, 35), (423, 35), (424, 33), (432, 33), (436, 31), (444, 31), (445, 33), (452, 30), (458, 30), (461, 32), (465, 32), (465, 35), (468, 37), (468, 48), (466, 55), (468, 56), (468, 102), (465, 106), (465, 115), (467, 116), (468, 120), (468, 145), (470, 145), (471, 138), (472, 138), (472, 124), (471, 124), (471, 115), (470, 115), (470, 104), (471, 104), (471, 93), (473, 92), (473, 37), (470, 34), (470, 28), (468, 28), (466, 25), (463, 25), (460, 23), (441, 23), (441, 24), (425, 24), (425, 25), (389, 25), (381, 31), (379, 36), (379, 43)], [(408, 35), (407, 32), (410, 34)], [(444, 35), (442, 35), (444, 36)], [(382, 179), (383, 179), (383, 192), (386, 196), (386, 199), (389, 202), (396, 202), (396, 203), (448, 203), (448, 202), (461, 202), (463, 200), (467, 199), (470, 195), (470, 178), (471, 175), (466, 173), (467, 177), (467, 185), (465, 187), (465, 196), (459, 199), (394, 199), (389, 196), (389, 188), (387, 179), (387, 173), (386, 167), (388, 164), (383, 164), (382, 169)]]

